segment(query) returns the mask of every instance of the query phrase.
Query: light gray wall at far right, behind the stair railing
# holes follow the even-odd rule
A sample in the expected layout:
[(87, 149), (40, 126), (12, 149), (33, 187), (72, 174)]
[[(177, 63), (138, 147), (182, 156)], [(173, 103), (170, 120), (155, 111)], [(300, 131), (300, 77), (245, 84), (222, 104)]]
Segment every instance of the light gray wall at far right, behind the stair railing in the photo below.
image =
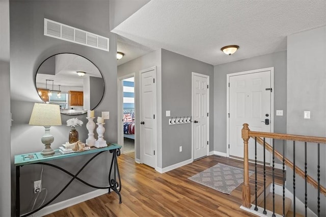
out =
[[(287, 40), (287, 133), (326, 136), (326, 26), (288, 36)], [(304, 111), (311, 112), (304, 119)], [(326, 186), (326, 145), (320, 145), (320, 184)], [(287, 157), (292, 159), (293, 146)], [(295, 146), (296, 165), (304, 169), (304, 145)], [(316, 144), (308, 146), (308, 174), (317, 180)], [(287, 170), (287, 188), (292, 190), (292, 170)], [(291, 180), (291, 181), (290, 181)], [(304, 189), (304, 181), (296, 179), (296, 189)], [(308, 206), (316, 212), (316, 191), (309, 185)], [(304, 191), (296, 191), (304, 201)], [(326, 215), (325, 197), (321, 196), (321, 216)]]

